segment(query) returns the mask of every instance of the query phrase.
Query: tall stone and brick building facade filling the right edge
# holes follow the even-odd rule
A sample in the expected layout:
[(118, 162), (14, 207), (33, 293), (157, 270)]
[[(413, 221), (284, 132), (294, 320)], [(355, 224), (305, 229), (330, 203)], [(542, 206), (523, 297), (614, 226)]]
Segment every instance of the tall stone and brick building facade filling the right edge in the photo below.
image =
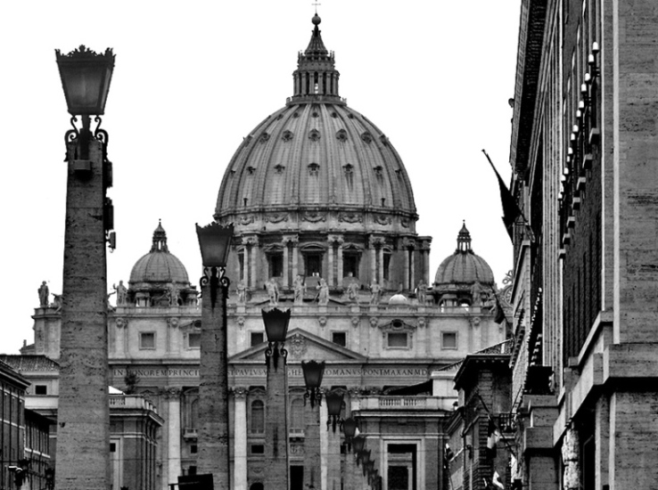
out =
[[(522, 2), (511, 163), (514, 409), (529, 488), (658, 478), (658, 14)], [(526, 233), (530, 228), (534, 239)]]

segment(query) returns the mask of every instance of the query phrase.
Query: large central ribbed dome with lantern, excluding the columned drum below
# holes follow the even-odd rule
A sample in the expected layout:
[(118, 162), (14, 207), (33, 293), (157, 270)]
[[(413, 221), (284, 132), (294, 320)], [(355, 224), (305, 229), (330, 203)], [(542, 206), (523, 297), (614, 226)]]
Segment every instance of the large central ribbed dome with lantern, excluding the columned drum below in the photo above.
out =
[(382, 131), (339, 97), (333, 53), (317, 23), (293, 74), (292, 98), (244, 138), (226, 168), (215, 217), (243, 231), (251, 223), (259, 230), (259, 221), (291, 228), (309, 221), (317, 229), (353, 223), (365, 212), (361, 230), (414, 233), (402, 160)]

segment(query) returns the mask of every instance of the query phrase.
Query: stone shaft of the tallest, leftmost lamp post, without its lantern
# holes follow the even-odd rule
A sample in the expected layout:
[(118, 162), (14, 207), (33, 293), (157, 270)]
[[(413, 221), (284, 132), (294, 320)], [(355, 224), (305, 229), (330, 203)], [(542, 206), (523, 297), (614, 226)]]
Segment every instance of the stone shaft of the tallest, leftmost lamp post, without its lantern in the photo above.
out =
[[(75, 160), (78, 142), (86, 159)], [(85, 149), (83, 144), (79, 137), (67, 144), (56, 481), (62, 490), (106, 490), (111, 480), (103, 143), (92, 139)], [(88, 175), (76, 171), (78, 161), (88, 162)]]

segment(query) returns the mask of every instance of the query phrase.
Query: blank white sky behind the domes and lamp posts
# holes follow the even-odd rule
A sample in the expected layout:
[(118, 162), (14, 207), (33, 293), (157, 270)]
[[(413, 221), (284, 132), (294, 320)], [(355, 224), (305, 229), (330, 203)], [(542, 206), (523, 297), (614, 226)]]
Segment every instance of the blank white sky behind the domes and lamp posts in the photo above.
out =
[[(521, 0), (325, 0), (317, 5), (341, 97), (382, 129), (414, 188), (416, 232), (433, 238), (430, 279), (465, 220), (498, 286), (512, 268), (498, 183), (508, 183)], [(198, 283), (194, 224), (212, 220), (243, 137), (292, 95), (311, 2), (167, 0), (0, 4), (0, 352), (32, 343), (42, 281), (62, 292), (70, 116), (55, 49), (113, 48), (102, 127), (114, 166), (117, 249), (108, 288), (127, 282), (161, 219)]]

